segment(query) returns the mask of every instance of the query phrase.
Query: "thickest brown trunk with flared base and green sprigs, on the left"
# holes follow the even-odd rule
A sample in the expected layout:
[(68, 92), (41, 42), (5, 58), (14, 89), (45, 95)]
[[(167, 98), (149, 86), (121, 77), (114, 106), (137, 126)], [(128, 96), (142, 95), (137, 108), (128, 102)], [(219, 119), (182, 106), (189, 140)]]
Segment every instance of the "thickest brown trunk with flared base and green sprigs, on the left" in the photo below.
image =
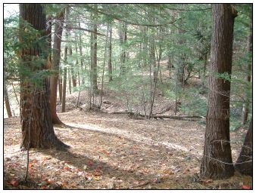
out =
[[(20, 18), (21, 67), (26, 69), (25, 72), (30, 71), (29, 75), (25, 72), (20, 74), (21, 147), (67, 147), (55, 136), (53, 129), (47, 76), (39, 76), (46, 68), (48, 57), (44, 9), (40, 4), (20, 4)], [(37, 79), (34, 80), (34, 77)]]

